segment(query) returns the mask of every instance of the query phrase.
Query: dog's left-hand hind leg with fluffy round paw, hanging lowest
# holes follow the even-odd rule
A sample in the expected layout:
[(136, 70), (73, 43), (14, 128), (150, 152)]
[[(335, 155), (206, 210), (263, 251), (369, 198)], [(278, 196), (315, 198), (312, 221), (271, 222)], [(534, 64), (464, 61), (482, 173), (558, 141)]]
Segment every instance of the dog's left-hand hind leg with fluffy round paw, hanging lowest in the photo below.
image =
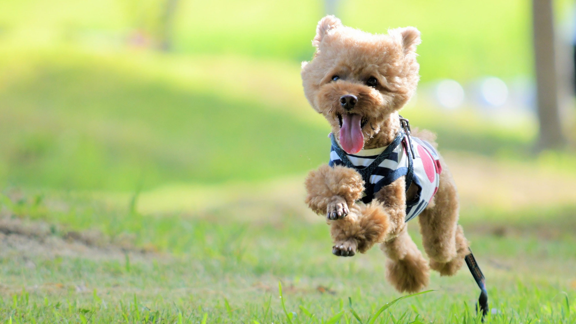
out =
[(399, 292), (418, 292), (430, 278), (428, 262), (404, 227), (396, 238), (380, 244), (386, 256), (386, 277)]

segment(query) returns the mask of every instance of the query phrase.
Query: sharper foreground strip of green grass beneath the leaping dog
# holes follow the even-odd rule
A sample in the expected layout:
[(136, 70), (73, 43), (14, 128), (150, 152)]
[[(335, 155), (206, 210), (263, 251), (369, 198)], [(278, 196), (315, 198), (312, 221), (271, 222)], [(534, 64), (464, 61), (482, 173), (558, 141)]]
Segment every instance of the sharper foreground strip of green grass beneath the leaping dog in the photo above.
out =
[[(135, 323), (156, 317), (158, 322), (172, 323), (181, 317), (183, 323), (198, 323), (206, 316), (207, 323), (326, 323), (343, 311), (339, 323), (351, 323), (357, 319), (348, 297), (366, 322), (382, 305), (402, 296), (385, 281), (381, 251), (374, 248), (354, 258), (334, 257), (327, 226), (307, 223), (290, 210), (268, 221), (242, 222), (226, 218), (225, 209), (203, 216), (158, 217), (111, 209), (78, 194), (44, 191), (40, 199), (31, 191), (4, 193), (4, 212), (31, 222), (65, 224), (52, 230), (55, 237), (97, 228), (112, 244), (122, 236), (131, 238), (132, 248), (124, 250), (125, 255), (118, 249), (104, 257), (64, 251), (59, 255), (58, 251), (39, 253), (35, 244), (18, 250), (3, 236), (2, 322), (12, 317), (13, 323), (83, 323), (91, 317), (93, 323)], [(533, 232), (502, 236), (483, 231), (485, 222), (466, 221), (468, 215), (462, 216), (487, 277), (490, 306), (496, 309), (488, 323), (576, 319), (572, 271), (576, 241), (570, 235), (574, 218), (564, 216), (574, 210), (540, 211), (546, 221), (560, 224), (562, 235), (552, 238), (540, 235), (541, 217), (522, 221)], [(411, 224), (412, 236), (420, 245), (415, 224)], [(514, 224), (507, 225), (517, 228)], [(50, 242), (28, 240), (37, 245)], [(143, 246), (159, 252), (139, 253)], [(376, 323), (479, 323), (473, 310), (479, 290), (467, 269), (455, 277), (433, 273), (429, 288), (435, 291), (398, 302)], [(281, 302), (288, 314), (294, 312), (290, 319)]]

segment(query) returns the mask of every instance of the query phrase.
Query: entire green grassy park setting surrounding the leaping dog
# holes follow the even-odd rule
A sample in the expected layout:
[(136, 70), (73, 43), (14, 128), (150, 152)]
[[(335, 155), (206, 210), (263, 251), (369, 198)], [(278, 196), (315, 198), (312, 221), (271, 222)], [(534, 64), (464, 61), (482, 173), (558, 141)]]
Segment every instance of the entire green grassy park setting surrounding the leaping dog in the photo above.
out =
[[(447, 109), (430, 94), (445, 79), (467, 96), (486, 76), (533, 84), (530, 3), (335, 3), (345, 25), (422, 32), (422, 90), (402, 114), (438, 134), (461, 224), (494, 282), (494, 322), (573, 321), (573, 96), (562, 115), (572, 144), (537, 151), (529, 103)], [(329, 127), (300, 80), (325, 5), (3, 0), (0, 315), (85, 322), (93, 311), (93, 322), (136, 322), (146, 308), (169, 310), (170, 321), (206, 313), (208, 322), (286, 322), (276, 299), (275, 317), (260, 312), (278, 280), (300, 317), (304, 307), (327, 319), (347, 296), (364, 317), (398, 296), (380, 251), (336, 259), (323, 218), (303, 203), (306, 172), (329, 152)], [(558, 31), (573, 5), (554, 2)], [(467, 272), (433, 274), (441, 297), (420, 296), (396, 313), (446, 323), (472, 314), (462, 303), (477, 294)]]

